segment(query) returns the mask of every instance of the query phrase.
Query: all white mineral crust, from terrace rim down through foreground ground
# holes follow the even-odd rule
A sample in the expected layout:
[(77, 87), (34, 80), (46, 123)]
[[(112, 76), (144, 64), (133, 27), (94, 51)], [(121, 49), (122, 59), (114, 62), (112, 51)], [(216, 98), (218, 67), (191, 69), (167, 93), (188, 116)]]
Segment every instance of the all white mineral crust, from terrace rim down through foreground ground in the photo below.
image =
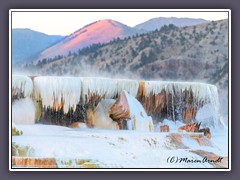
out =
[[(216, 164), (211, 163), (169, 163), (168, 157), (202, 160), (203, 154), (198, 153), (203, 152), (228, 157), (228, 131), (219, 117), (214, 85), (145, 81), (144, 86), (145, 96), (162, 90), (178, 96), (191, 89), (195, 99), (205, 102), (196, 112), (196, 121), (211, 128), (212, 138), (207, 139), (203, 133), (178, 132), (182, 121), (164, 119), (153, 124), (151, 115), (136, 98), (140, 88), (136, 80), (53, 76), (32, 79), (12, 77), (12, 89), (17, 93), (21, 90), (24, 96), (12, 103), (12, 126), (23, 132), (12, 137), (17, 158), (53, 158), (58, 168), (79, 168), (76, 160), (101, 168), (215, 168)], [(109, 116), (109, 109), (121, 92), (129, 106), (128, 130), (119, 130), (117, 122)], [(92, 110), (94, 128), (87, 128), (85, 123), (75, 128), (35, 124), (37, 101), (45, 107), (63, 101), (66, 113), (69, 108), (75, 109), (81, 99), (87, 102), (92, 94), (101, 98)], [(161, 125), (168, 125), (170, 131), (160, 132)], [(219, 128), (223, 126), (225, 129)]]

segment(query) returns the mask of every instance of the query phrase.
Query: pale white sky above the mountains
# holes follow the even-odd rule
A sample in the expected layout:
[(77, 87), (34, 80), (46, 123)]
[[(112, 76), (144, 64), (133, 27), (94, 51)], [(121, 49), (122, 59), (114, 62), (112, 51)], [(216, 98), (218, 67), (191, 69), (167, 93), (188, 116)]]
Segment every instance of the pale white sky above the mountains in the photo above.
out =
[(220, 20), (228, 18), (228, 12), (226, 12), (226, 10), (225, 12), (219, 12), (219, 10), (218, 12), (216, 12), (216, 10), (215, 12), (197, 12), (196, 10), (194, 10), (194, 12), (176, 12), (172, 10), (168, 10), (171, 12), (166, 12), (166, 10), (154, 10), (154, 12), (152, 9), (149, 10), (151, 12), (134, 12), (136, 10), (128, 10), (132, 12), (116, 12), (116, 10), (113, 12), (84, 12), (86, 10), (78, 10), (79, 12), (51, 11), (52, 12), (37, 12), (35, 10), (35, 12), (26, 12), (26, 10), (12, 10), (12, 28), (29, 28), (48, 35), (65, 36), (75, 32), (89, 23), (102, 19), (112, 19), (130, 27), (134, 27), (137, 24), (157, 17), (188, 17), (202, 18), (206, 20)]

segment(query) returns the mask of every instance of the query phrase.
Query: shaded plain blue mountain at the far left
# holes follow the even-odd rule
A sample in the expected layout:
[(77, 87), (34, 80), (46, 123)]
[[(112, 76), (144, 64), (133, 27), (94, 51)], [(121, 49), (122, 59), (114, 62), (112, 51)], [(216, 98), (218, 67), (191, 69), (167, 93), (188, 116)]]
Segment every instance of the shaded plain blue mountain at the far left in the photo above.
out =
[(47, 35), (31, 29), (12, 29), (12, 62), (22, 62), (62, 38), (63, 36)]

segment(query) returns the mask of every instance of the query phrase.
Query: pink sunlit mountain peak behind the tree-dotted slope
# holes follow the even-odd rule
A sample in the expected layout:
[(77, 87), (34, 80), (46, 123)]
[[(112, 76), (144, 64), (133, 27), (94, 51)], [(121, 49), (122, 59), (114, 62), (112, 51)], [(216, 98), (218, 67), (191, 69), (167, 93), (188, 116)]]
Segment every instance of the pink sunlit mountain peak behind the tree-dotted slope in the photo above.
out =
[(57, 55), (68, 55), (69, 52), (76, 52), (92, 44), (106, 43), (114, 38), (125, 38), (139, 32), (142, 31), (114, 20), (100, 20), (84, 26), (54, 46), (42, 51), (38, 59), (53, 58)]

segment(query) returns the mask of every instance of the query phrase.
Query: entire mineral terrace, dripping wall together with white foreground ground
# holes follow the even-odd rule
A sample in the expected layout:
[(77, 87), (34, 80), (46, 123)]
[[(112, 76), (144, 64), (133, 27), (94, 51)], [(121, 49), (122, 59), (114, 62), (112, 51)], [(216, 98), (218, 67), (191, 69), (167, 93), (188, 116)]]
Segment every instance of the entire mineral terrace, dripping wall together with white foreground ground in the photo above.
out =
[[(226, 168), (218, 105), (209, 84), (13, 75), (12, 166)], [(173, 155), (225, 161), (170, 164)]]

